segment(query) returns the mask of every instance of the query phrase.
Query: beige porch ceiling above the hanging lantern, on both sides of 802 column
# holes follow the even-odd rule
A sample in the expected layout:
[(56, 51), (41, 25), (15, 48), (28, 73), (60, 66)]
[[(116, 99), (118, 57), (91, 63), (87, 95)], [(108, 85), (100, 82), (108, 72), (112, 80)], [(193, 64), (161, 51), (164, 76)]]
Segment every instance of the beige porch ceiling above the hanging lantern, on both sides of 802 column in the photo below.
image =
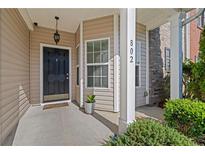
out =
[[(171, 15), (177, 13), (177, 9), (137, 9), (137, 22), (147, 26), (148, 29), (154, 29), (166, 23)], [(59, 30), (67, 32), (76, 32), (78, 25), (82, 20), (93, 19), (97, 17), (119, 13), (119, 8), (76, 8), (76, 9), (26, 9), (31, 22), (37, 22), (39, 26), (55, 28), (55, 16), (59, 16)]]

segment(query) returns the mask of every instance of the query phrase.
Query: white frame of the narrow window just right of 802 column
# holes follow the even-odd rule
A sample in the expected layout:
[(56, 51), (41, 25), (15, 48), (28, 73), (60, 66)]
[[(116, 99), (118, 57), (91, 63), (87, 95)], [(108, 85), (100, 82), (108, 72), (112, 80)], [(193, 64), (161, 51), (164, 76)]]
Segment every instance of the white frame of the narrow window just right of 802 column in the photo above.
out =
[[(136, 66), (139, 66), (139, 85), (136, 86), (136, 81), (135, 81), (135, 88), (141, 88), (141, 65), (142, 65), (142, 41), (138, 41), (136, 40), (136, 48), (135, 48), (135, 57), (137, 57), (137, 46), (139, 43), (139, 47), (140, 47), (140, 52), (139, 52), (139, 64), (137, 64), (137, 61), (135, 59), (135, 71), (136, 71)], [(136, 80), (136, 72), (135, 72), (135, 80)]]

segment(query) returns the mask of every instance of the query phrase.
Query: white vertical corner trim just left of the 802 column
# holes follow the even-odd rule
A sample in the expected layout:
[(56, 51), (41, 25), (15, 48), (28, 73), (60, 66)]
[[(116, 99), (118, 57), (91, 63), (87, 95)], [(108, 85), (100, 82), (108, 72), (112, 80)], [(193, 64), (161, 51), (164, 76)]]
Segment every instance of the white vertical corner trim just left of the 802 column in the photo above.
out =
[(114, 14), (114, 112), (120, 111), (119, 14)]

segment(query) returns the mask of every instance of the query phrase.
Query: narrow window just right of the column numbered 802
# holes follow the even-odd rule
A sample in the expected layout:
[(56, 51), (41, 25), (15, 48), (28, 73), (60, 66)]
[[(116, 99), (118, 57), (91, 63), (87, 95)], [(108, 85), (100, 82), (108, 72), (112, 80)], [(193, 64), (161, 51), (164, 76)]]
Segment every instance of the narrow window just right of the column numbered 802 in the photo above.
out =
[(135, 54), (135, 86), (140, 87), (140, 77), (141, 77), (141, 42), (136, 42), (136, 54)]

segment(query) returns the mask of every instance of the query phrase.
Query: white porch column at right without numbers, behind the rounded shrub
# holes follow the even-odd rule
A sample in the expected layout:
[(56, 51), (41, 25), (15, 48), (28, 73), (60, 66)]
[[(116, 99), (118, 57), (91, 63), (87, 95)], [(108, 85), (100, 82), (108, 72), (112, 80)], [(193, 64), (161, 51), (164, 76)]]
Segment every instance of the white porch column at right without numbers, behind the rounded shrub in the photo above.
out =
[(171, 99), (182, 98), (182, 14), (170, 18), (171, 22)]

